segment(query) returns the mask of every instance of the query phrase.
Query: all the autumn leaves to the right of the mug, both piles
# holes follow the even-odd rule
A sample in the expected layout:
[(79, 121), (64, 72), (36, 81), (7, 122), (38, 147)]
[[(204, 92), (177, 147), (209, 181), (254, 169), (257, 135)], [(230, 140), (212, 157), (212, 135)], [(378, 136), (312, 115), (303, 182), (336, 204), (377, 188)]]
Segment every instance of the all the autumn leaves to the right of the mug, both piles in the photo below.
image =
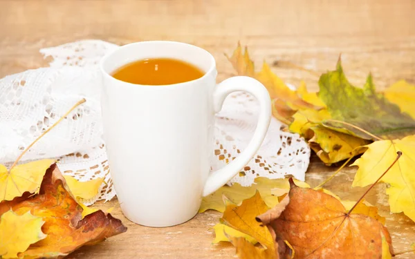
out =
[[(297, 90), (288, 88), (265, 62), (256, 72), (240, 45), (228, 59), (238, 75), (266, 86), (273, 115), (286, 130), (302, 135), (324, 164), (345, 160), (345, 166), (361, 155), (351, 165), (358, 166), (352, 186), (387, 183), (391, 212), (415, 221), (415, 86), (398, 81), (378, 93), (369, 75), (358, 88), (347, 80), (339, 59), (335, 70), (320, 76), (320, 91), (308, 93), (304, 82)], [(223, 186), (204, 198), (201, 212), (223, 212), (214, 243), (231, 242), (239, 258), (395, 255), (376, 207), (363, 197), (342, 201), (320, 186), (257, 178), (250, 187)]]

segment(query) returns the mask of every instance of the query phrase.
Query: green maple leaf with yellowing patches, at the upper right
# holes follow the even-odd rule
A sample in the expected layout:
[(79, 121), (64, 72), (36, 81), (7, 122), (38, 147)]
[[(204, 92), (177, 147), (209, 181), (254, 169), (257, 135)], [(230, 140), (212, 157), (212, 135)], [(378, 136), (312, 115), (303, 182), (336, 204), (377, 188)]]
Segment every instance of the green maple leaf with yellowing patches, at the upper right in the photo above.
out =
[(366, 140), (400, 138), (415, 133), (414, 119), (376, 93), (371, 75), (363, 88), (351, 85), (340, 59), (336, 70), (320, 77), (319, 86), (318, 97), (326, 104), (332, 118), (323, 121), (325, 126)]

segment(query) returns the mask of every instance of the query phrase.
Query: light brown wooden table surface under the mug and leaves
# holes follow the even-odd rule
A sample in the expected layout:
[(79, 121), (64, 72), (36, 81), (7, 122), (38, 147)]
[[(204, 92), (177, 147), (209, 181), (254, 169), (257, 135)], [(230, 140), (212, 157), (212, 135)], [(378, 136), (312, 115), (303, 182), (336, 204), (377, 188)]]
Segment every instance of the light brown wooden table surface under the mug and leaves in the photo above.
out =
[[(252, 0), (0, 0), (0, 77), (46, 66), (39, 48), (77, 39), (115, 44), (163, 39), (185, 41), (212, 52), (219, 80), (234, 75), (223, 53), (241, 40), (252, 58), (264, 59), (284, 81), (304, 80), (317, 90), (313, 73), (333, 69), (340, 53), (350, 81), (362, 85), (369, 72), (382, 89), (398, 79), (415, 84), (415, 1), (252, 1)], [(315, 186), (337, 169), (311, 158), (307, 182)], [(340, 197), (357, 200), (364, 189), (350, 185), (356, 169), (345, 169), (326, 185)], [(367, 200), (387, 216), (396, 251), (415, 242), (415, 224), (405, 215), (389, 215), (385, 186)], [(108, 208), (116, 199), (98, 207)], [(208, 211), (176, 227), (153, 229), (129, 222), (117, 207), (113, 214), (128, 231), (68, 258), (233, 258), (234, 248), (212, 245), (211, 227), (220, 213)], [(407, 253), (398, 258), (415, 258)]]

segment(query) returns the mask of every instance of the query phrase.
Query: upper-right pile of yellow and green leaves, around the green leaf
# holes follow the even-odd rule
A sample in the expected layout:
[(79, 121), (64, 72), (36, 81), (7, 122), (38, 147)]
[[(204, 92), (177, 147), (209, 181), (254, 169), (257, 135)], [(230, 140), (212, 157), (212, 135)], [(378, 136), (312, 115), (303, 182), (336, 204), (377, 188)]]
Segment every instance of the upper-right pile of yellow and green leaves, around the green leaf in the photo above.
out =
[(415, 220), (415, 86), (398, 81), (382, 93), (376, 92), (371, 75), (358, 88), (337, 67), (320, 76), (318, 93), (308, 93), (302, 83), (291, 90), (264, 63), (259, 73), (248, 50), (237, 47), (228, 57), (238, 75), (255, 77), (273, 99), (273, 115), (299, 133), (327, 165), (351, 160), (359, 169), (352, 186), (373, 184), (394, 161), (403, 156), (382, 178), (387, 183), (391, 212), (403, 212)]

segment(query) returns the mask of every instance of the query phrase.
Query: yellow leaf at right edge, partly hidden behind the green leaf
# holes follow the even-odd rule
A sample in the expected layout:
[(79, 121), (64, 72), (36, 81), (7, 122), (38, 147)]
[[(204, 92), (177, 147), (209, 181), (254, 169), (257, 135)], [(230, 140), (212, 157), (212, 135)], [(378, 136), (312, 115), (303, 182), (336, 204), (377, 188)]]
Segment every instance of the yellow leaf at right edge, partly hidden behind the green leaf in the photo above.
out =
[(405, 80), (397, 81), (385, 90), (385, 97), (399, 106), (400, 111), (415, 119), (415, 86)]

